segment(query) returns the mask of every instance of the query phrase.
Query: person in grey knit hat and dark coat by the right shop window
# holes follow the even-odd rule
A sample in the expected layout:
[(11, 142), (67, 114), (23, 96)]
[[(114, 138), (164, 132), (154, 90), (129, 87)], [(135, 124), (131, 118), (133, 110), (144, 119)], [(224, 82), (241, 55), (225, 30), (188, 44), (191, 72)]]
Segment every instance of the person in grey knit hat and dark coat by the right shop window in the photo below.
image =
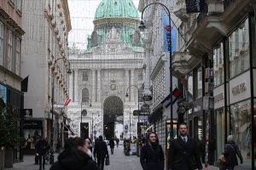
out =
[(234, 167), (238, 165), (237, 157), (240, 159), (242, 164), (241, 151), (238, 146), (235, 144), (235, 139), (233, 135), (229, 135), (227, 138), (227, 144), (224, 145), (224, 157), (225, 157), (225, 167), (228, 170), (234, 170)]

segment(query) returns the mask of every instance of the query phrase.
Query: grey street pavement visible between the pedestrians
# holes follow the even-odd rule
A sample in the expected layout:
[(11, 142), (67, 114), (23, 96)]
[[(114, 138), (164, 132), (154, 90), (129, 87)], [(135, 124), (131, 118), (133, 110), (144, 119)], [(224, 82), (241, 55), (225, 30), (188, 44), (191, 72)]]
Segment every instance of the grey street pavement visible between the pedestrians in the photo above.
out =
[[(118, 148), (114, 148), (113, 155), (110, 153), (110, 165), (105, 166), (105, 170), (143, 170), (141, 167), (139, 157), (136, 155), (125, 156), (123, 145), (119, 145)], [(57, 160), (58, 154), (55, 154), (55, 161)], [(50, 165), (45, 165), (45, 170), (49, 170)], [(204, 167), (204, 165), (203, 165)], [(24, 161), (20, 163), (15, 163), (13, 168), (5, 168), (6, 170), (38, 170), (38, 165), (34, 165), (34, 156), (24, 156)], [(218, 170), (218, 167), (204, 167), (205, 170)], [(248, 170), (245, 167), (235, 167), (235, 170)]]

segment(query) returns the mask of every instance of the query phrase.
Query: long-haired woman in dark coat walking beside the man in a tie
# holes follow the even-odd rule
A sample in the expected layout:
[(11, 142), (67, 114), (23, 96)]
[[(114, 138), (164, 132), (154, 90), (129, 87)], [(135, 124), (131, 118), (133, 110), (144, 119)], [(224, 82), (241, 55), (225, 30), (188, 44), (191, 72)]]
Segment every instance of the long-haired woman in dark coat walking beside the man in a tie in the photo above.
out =
[(140, 161), (143, 170), (164, 170), (164, 151), (158, 143), (156, 133), (148, 133), (148, 140), (147, 143), (143, 145)]

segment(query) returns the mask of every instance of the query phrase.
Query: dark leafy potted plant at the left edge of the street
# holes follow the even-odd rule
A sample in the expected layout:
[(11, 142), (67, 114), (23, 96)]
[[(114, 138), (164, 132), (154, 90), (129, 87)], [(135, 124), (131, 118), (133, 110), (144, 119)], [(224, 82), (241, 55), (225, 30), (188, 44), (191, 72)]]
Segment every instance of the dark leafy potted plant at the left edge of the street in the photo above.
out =
[(4, 167), (13, 167), (14, 147), (24, 141), (20, 138), (19, 120), (20, 112), (11, 105), (0, 107), (0, 148), (4, 148), (4, 160), (0, 160), (0, 164)]

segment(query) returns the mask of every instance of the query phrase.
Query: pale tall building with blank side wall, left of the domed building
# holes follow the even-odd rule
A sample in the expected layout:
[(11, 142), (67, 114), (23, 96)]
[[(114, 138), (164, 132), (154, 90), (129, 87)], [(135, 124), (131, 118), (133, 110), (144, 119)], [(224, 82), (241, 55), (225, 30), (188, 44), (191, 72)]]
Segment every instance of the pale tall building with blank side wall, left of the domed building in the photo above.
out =
[[(25, 119), (24, 135), (26, 139), (28, 135), (43, 135), (49, 140), (54, 134), (55, 145), (57, 139), (64, 140), (63, 117), (67, 117), (65, 109), (54, 108), (52, 120), (51, 103), (53, 86), (54, 104), (62, 105), (68, 98), (67, 36), (71, 30), (68, 4), (67, 0), (24, 0), (22, 3), (26, 34), (21, 46), (21, 75), (29, 76), (24, 107), (32, 109), (32, 117)], [(27, 152), (33, 149), (34, 143), (26, 148)]]

